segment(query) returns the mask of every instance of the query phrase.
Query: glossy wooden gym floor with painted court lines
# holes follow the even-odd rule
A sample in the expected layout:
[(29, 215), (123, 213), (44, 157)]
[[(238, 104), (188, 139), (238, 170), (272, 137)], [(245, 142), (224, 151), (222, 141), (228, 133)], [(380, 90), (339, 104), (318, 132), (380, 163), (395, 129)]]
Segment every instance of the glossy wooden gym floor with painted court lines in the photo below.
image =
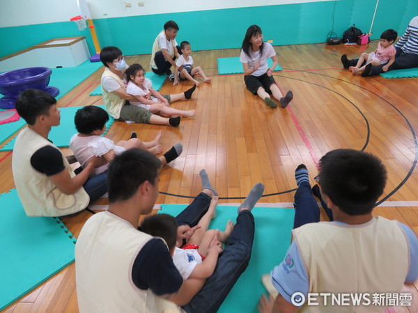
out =
[[(180, 127), (114, 122), (107, 134), (118, 141), (137, 131), (150, 141), (162, 131), (163, 150), (183, 143), (183, 154), (164, 166), (157, 203), (189, 203), (201, 190), (199, 170), (205, 168), (219, 192), (220, 203), (240, 202), (256, 182), (265, 184), (261, 202), (293, 202), (295, 167), (305, 163), (316, 176), (316, 165), (326, 152), (339, 148), (365, 150), (380, 157), (388, 170), (382, 206), (376, 215), (396, 219), (418, 233), (418, 79), (362, 78), (342, 70), (341, 54), (349, 58), (373, 51), (368, 47), (293, 45), (274, 47), (282, 72), (274, 78), (281, 90), (293, 90), (286, 109), (270, 109), (245, 89), (242, 74), (217, 75), (217, 58), (239, 56), (239, 49), (196, 51), (195, 65), (210, 75), (212, 84), (201, 83), (190, 101), (172, 104), (177, 109), (196, 109)], [(149, 55), (128, 56), (127, 63), (149, 69)], [(102, 104), (101, 96), (88, 96), (100, 83), (102, 68), (62, 97), (58, 106)], [(161, 93), (179, 93), (192, 86), (166, 81)], [(71, 154), (68, 149), (65, 154)], [(0, 192), (14, 188), (11, 152), (0, 152)], [(164, 193), (169, 193), (166, 195)], [(95, 204), (106, 204), (98, 200)], [(321, 214), (321, 218), (325, 214)], [(88, 212), (63, 218), (77, 236)], [(405, 286), (412, 293), (412, 307), (396, 312), (418, 312), (418, 282)], [(10, 305), (5, 312), (78, 312), (75, 265), (71, 264), (40, 287)]]

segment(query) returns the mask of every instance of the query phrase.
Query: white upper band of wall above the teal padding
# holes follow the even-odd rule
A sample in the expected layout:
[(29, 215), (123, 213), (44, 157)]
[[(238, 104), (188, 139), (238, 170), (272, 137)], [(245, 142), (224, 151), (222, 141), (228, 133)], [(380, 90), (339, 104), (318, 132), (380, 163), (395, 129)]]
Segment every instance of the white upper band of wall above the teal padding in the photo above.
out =
[[(333, 0), (86, 0), (93, 19)], [(138, 6), (138, 2), (144, 6)], [(126, 7), (131, 3), (132, 7)], [(0, 0), (0, 27), (68, 22), (77, 0)]]

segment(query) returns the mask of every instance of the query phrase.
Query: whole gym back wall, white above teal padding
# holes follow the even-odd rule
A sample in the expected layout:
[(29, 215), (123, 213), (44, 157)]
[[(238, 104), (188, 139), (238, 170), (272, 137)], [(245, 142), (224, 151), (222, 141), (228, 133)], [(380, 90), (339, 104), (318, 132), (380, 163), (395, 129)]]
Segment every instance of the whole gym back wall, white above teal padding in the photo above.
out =
[[(254, 1), (249, 0), (205, 3), (195, 0), (144, 0), (144, 7), (132, 2), (132, 7), (126, 8), (123, 3), (128, 1), (88, 0), (101, 47), (115, 45), (124, 54), (149, 54), (157, 33), (169, 19), (180, 26), (177, 41), (188, 40), (194, 50), (240, 47), (251, 24), (261, 26), (265, 40), (272, 39), (273, 45), (325, 42), (327, 33), (332, 30), (333, 16), (334, 32), (339, 36), (353, 23), (368, 32), (376, 6), (376, 0), (259, 0), (257, 3), (263, 4), (261, 6), (251, 6)], [(79, 31), (74, 22), (65, 22), (79, 15), (76, 1), (43, 2), (45, 5), (57, 2), (61, 6), (42, 8), (42, 0), (1, 1), (0, 57), (52, 38), (78, 35), (87, 38), (93, 54), (88, 29)], [(242, 7), (237, 7), (238, 2)], [(13, 14), (19, 12), (19, 3), (23, 9), (19, 14)], [(416, 0), (394, 3), (393, 0), (380, 0), (372, 38), (379, 38), (380, 33), (389, 28), (402, 35), (410, 19), (418, 13)], [(42, 14), (37, 14), (36, 10)], [(29, 12), (31, 17), (23, 18), (23, 12)]]

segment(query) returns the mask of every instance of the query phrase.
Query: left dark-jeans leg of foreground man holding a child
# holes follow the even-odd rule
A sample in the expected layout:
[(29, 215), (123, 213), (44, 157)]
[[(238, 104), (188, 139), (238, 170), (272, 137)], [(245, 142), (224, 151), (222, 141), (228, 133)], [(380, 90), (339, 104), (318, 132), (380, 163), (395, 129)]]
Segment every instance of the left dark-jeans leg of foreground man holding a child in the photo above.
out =
[(206, 193), (199, 193), (193, 202), (176, 216), (178, 225), (196, 226), (202, 216), (208, 211), (211, 199)]

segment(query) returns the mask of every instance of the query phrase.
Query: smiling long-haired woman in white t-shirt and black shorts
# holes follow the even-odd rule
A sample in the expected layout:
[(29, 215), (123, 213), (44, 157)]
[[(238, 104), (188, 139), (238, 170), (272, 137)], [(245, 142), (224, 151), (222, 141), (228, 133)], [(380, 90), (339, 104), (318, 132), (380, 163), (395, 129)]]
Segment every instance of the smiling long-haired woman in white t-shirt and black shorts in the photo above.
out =
[[(267, 58), (273, 61), (272, 67), (268, 67)], [(272, 77), (273, 70), (277, 65), (276, 51), (270, 43), (263, 42), (263, 33), (257, 25), (251, 25), (245, 33), (242, 41), (240, 61), (244, 67), (244, 81), (247, 89), (254, 95), (258, 95), (265, 104), (277, 108), (277, 103), (270, 98), (279, 100), (281, 107), (286, 106), (293, 99), (293, 93), (289, 90), (284, 97)]]

